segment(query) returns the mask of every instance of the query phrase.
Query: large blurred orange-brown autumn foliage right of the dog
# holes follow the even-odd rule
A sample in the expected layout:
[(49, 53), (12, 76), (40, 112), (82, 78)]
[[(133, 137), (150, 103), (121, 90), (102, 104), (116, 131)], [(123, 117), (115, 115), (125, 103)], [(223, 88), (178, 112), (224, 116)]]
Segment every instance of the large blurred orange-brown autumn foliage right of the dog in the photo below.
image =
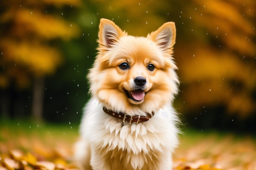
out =
[(255, 2), (193, 0), (184, 11), (180, 16), (187, 19), (190, 37), (182, 37), (176, 48), (184, 87), (180, 104), (186, 103), (181, 108), (189, 112), (222, 106), (222, 112), (240, 118), (254, 116)]

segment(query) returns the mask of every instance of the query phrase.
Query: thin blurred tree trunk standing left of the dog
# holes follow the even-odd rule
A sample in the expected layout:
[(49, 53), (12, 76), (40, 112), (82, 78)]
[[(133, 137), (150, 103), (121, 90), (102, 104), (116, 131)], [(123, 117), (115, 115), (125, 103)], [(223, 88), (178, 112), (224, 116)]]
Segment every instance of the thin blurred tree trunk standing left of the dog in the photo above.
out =
[(32, 119), (43, 120), (44, 77), (35, 77), (33, 86)]

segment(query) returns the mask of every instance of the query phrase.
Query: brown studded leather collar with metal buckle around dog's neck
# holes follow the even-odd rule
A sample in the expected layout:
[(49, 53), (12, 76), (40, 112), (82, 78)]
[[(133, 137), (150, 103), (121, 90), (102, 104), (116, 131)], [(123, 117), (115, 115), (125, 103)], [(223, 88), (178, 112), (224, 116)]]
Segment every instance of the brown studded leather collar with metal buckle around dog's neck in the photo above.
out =
[(132, 124), (132, 123), (133, 124), (135, 124), (135, 123), (138, 124), (139, 122), (149, 121), (149, 119), (155, 115), (155, 113), (152, 112), (152, 114), (146, 113), (146, 115), (147, 115), (146, 117), (145, 116), (139, 116), (139, 115), (129, 116), (129, 115), (126, 115), (125, 113), (113, 112), (112, 110), (108, 110), (106, 107), (103, 107), (103, 110), (108, 115), (110, 115), (112, 117), (115, 117), (115, 118), (118, 118), (118, 119), (122, 119), (123, 123), (129, 122), (129, 124)]

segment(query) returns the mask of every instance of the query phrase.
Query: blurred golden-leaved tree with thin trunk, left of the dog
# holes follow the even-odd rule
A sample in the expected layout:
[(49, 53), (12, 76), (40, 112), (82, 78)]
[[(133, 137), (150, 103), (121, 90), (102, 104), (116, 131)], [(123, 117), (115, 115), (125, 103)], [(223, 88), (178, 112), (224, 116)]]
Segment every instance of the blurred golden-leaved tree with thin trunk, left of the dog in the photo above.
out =
[[(33, 81), (31, 112), (36, 120), (42, 119), (44, 77), (54, 73), (62, 62), (54, 42), (70, 40), (79, 32), (60, 11), (79, 4), (79, 0), (0, 2), (0, 88), (15, 84), (16, 89), (25, 89)], [(10, 97), (2, 93), (1, 98), (2, 108), (7, 108)]]

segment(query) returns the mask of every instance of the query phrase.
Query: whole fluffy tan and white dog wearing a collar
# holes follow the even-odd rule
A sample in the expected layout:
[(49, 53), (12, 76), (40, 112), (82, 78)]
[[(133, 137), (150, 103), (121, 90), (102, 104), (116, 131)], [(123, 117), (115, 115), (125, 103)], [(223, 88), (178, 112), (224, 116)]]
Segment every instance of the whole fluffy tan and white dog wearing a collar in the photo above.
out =
[(75, 160), (83, 170), (171, 170), (178, 145), (178, 93), (172, 57), (176, 28), (166, 22), (135, 37), (101, 19), (98, 53), (88, 73)]

